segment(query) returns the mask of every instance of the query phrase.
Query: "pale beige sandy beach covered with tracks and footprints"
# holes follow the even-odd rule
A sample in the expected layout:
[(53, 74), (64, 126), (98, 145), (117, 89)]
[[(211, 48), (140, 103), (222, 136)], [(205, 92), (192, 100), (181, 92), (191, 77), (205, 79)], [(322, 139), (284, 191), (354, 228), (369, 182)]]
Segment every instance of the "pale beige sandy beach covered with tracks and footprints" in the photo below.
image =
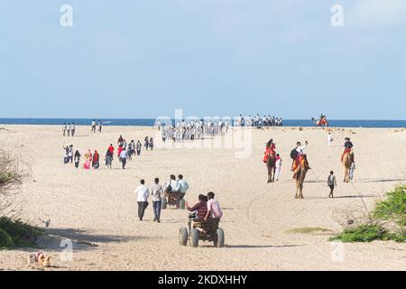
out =
[[(333, 132), (328, 148), (327, 133), (305, 127), (251, 129), (252, 152), (236, 157), (238, 148), (160, 147), (152, 127), (105, 126), (102, 134), (77, 126), (77, 136), (63, 137), (60, 126), (4, 126), (0, 145), (21, 156), (31, 167), (24, 181), (21, 217), (42, 226), (51, 218), (40, 247), (51, 255), (47, 270), (401, 270), (406, 268), (406, 245), (375, 241), (369, 244), (328, 242), (341, 230), (343, 210), (371, 209), (385, 191), (406, 182), (406, 131), (352, 128)], [(233, 134), (233, 129), (229, 134)], [(127, 143), (146, 135), (155, 139), (153, 152), (143, 150), (123, 171), (115, 156), (114, 169), (103, 159), (108, 144), (116, 146), (119, 135)], [(249, 135), (249, 134), (248, 134)], [(344, 137), (355, 144), (354, 184), (342, 182), (340, 155)], [(262, 162), (265, 143), (273, 138), (282, 157), (281, 180), (267, 183)], [(291, 180), (291, 148), (309, 141), (306, 152), (310, 172), (304, 184), (304, 200), (295, 200)], [(73, 144), (83, 155), (88, 148), (101, 154), (101, 168), (86, 172), (62, 163), (62, 144)], [(202, 144), (195, 141), (193, 145)], [(186, 145), (186, 144), (184, 144)], [(234, 144), (233, 144), (234, 145)], [(204, 146), (204, 145), (201, 145)], [(215, 145), (213, 145), (215, 146)], [(235, 145), (238, 146), (238, 145)], [(251, 147), (251, 146), (250, 146)], [(238, 156), (238, 154), (237, 154)], [(83, 161), (83, 159), (82, 159)], [(328, 172), (337, 176), (337, 198), (328, 199)], [(143, 222), (137, 218), (134, 189), (140, 179), (152, 184), (182, 173), (189, 182), (185, 197), (197, 202), (198, 193), (214, 191), (224, 218), (220, 226), (226, 247), (180, 247), (178, 232), (187, 225), (187, 211), (169, 207), (161, 211), (161, 223), (152, 221), (152, 201)], [(330, 231), (291, 233), (295, 228), (326, 228)], [(73, 260), (60, 258), (60, 241), (69, 238)], [(26, 270), (26, 256), (35, 249), (0, 251), (0, 268)]]

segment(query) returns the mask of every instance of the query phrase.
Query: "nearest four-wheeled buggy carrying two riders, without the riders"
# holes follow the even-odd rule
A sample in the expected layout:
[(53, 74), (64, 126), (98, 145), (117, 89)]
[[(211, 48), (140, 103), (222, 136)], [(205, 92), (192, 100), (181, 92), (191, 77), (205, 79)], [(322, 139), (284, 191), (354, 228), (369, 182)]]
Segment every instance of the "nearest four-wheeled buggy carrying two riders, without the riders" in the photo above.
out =
[(214, 247), (224, 247), (224, 231), (218, 227), (219, 220), (195, 220), (196, 214), (189, 214), (188, 228), (179, 230), (179, 244), (198, 247), (198, 240), (213, 242)]

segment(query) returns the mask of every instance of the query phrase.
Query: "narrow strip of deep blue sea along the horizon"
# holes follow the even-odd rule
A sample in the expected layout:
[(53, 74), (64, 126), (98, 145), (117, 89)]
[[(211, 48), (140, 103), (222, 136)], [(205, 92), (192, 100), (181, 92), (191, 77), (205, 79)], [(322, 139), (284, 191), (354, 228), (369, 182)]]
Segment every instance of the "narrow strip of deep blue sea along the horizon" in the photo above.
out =
[[(103, 126), (153, 126), (153, 118), (102, 118)], [(90, 118), (0, 118), (1, 125), (51, 125), (75, 123), (77, 126), (89, 126)], [(173, 122), (173, 121), (172, 121)], [(341, 120), (329, 119), (329, 126), (336, 127), (406, 127), (406, 120)], [(97, 119), (98, 123), (98, 119)], [(314, 126), (311, 119), (284, 119), (283, 126)]]

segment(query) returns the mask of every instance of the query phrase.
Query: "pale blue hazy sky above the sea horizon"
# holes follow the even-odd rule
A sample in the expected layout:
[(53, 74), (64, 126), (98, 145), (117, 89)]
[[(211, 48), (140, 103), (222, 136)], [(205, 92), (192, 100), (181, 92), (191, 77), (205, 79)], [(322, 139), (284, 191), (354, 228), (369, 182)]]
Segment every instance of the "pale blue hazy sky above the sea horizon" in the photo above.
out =
[(404, 0), (0, 0), (0, 117), (406, 119), (405, 48)]

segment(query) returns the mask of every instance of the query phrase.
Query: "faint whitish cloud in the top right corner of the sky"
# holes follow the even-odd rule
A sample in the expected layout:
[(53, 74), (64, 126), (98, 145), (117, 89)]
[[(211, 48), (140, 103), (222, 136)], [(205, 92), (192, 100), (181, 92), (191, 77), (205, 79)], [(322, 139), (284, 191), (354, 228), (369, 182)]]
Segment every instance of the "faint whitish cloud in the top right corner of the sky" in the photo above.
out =
[(357, 0), (348, 14), (348, 23), (364, 28), (406, 23), (406, 1)]

